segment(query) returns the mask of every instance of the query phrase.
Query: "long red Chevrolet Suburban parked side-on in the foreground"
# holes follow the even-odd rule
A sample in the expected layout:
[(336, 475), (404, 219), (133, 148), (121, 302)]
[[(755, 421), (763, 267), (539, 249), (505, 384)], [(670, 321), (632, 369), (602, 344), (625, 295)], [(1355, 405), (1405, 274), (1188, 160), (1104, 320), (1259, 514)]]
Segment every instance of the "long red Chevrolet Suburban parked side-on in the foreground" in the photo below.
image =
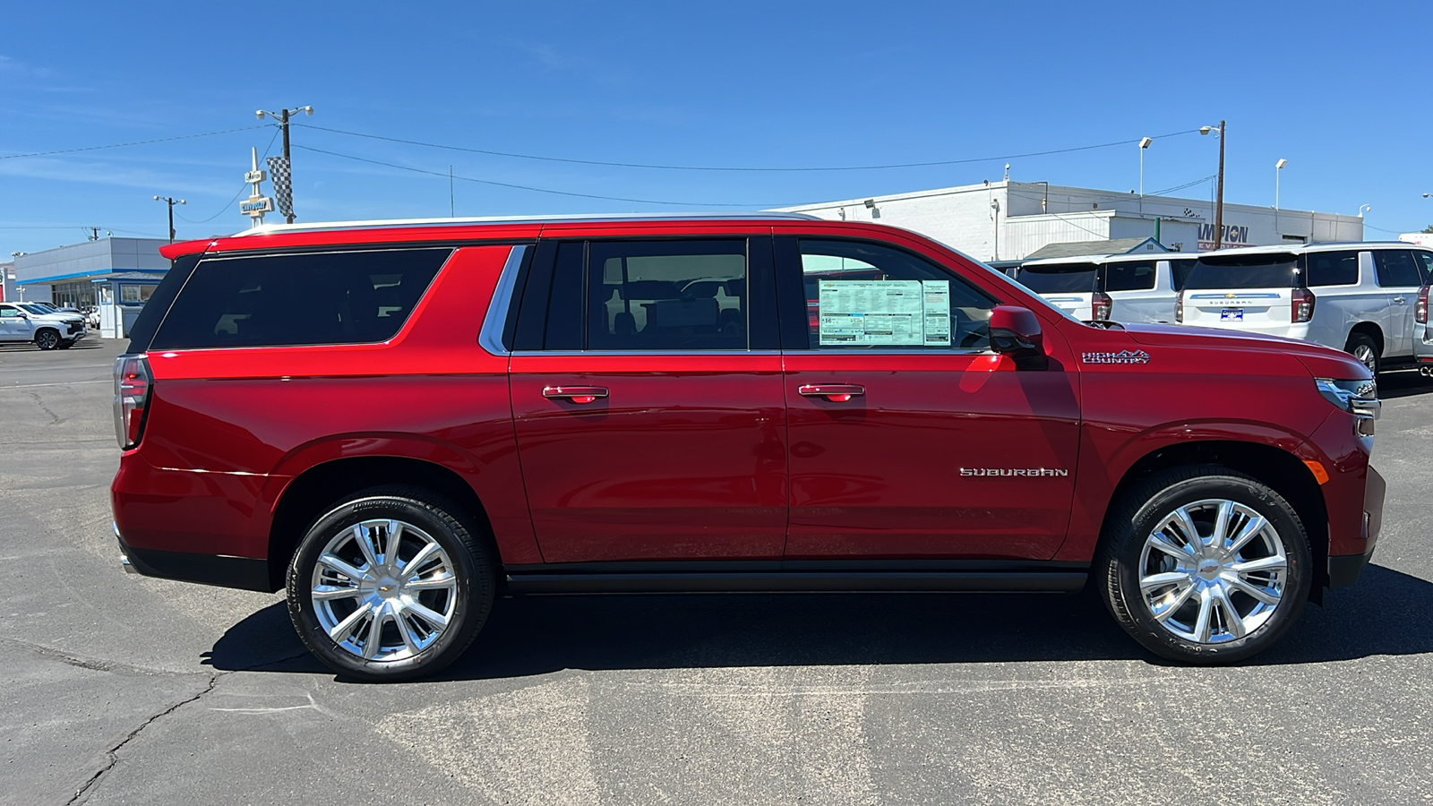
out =
[(163, 250), (116, 363), (125, 565), (287, 587), (344, 675), (493, 598), (1066, 591), (1225, 663), (1379, 534), (1369, 370), (1086, 324), (890, 227), (794, 215), (271, 227)]

